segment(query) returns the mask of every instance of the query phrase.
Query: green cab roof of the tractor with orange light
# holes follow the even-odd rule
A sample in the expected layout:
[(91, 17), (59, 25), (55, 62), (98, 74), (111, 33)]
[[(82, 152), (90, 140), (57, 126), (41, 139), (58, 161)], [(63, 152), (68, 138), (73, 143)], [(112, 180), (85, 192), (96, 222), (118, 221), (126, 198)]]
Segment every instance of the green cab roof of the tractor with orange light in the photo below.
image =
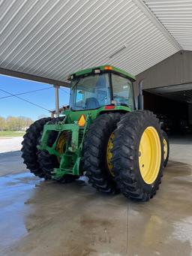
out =
[(74, 72), (72, 74), (70, 74), (70, 78), (71, 76), (73, 77), (80, 77), (80, 76), (83, 76), (85, 74), (92, 74), (95, 70), (100, 70), (100, 71), (111, 71), (115, 74), (120, 74), (120, 75), (123, 75), (124, 77), (127, 77), (133, 81), (136, 80), (136, 77), (132, 76), (131, 74), (127, 73), (126, 71), (123, 71), (121, 70), (120, 68), (116, 68), (112, 65), (102, 65), (102, 66), (98, 66), (98, 67), (92, 67), (92, 68), (86, 68), (86, 69), (83, 69), (81, 71), (77, 71), (77, 72)]

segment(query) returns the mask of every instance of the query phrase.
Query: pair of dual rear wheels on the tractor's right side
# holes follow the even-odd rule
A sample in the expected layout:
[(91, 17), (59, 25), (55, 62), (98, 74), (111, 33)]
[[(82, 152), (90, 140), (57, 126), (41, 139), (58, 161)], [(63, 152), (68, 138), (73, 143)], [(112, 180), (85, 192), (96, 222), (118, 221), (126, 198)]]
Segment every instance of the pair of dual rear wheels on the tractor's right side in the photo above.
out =
[(163, 134), (153, 113), (137, 110), (99, 116), (89, 128), (84, 151), (87, 176), (99, 191), (121, 191), (142, 201), (156, 194), (164, 159)]

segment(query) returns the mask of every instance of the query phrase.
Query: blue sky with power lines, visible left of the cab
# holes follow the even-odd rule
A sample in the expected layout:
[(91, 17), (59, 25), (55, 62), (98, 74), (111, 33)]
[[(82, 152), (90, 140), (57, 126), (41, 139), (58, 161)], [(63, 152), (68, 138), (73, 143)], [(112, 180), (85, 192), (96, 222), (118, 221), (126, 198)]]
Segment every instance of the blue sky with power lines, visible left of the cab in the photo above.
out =
[[(34, 91), (37, 89), (49, 88), (40, 92), (32, 92), (26, 95), (19, 95), (21, 98), (38, 104), (48, 110), (55, 108), (55, 92), (52, 86), (45, 83), (37, 83), (34, 81), (22, 80), (15, 77), (7, 77), (0, 75), (0, 116), (26, 116), (33, 120), (39, 116), (49, 116), (49, 112), (39, 107), (35, 107), (19, 98), (1, 98), (9, 96), (2, 92), (1, 89), (12, 94)], [(69, 89), (63, 87), (59, 90), (59, 105), (65, 105), (69, 102)]]

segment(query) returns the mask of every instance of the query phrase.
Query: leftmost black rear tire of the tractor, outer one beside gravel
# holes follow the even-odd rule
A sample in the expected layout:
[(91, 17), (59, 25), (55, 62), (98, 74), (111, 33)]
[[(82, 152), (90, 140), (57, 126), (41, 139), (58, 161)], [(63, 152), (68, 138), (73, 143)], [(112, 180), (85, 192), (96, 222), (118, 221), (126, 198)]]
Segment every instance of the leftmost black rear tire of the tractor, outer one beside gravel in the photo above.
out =
[(43, 170), (37, 161), (37, 143), (40, 138), (40, 134), (43, 131), (43, 126), (46, 122), (49, 122), (51, 118), (43, 118), (34, 122), (23, 137), (22, 158), (23, 163), (26, 164), (28, 170), (34, 173), (35, 176), (44, 178)]

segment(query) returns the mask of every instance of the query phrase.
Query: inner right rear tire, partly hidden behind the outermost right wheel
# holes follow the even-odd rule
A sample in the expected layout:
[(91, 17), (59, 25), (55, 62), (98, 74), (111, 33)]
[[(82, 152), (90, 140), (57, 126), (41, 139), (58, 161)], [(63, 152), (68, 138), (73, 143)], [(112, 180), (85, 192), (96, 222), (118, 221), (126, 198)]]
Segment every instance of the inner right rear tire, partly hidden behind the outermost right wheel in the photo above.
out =
[(120, 113), (104, 113), (90, 125), (84, 141), (84, 169), (89, 182), (98, 191), (118, 192), (110, 164), (107, 164), (107, 145), (110, 136), (117, 127)]

